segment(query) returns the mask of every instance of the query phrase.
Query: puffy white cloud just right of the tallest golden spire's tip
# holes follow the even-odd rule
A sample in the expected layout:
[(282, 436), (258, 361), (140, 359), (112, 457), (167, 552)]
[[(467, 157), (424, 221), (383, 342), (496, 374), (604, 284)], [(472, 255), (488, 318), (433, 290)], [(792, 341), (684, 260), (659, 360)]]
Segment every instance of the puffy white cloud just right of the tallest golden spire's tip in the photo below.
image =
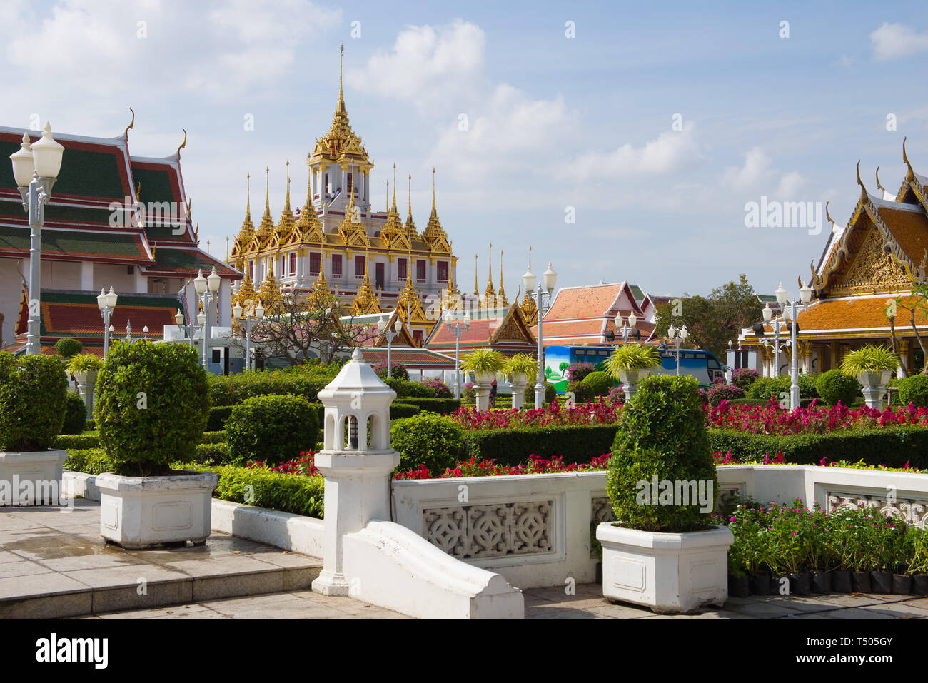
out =
[(445, 26), (407, 26), (393, 49), (379, 51), (364, 69), (346, 71), (359, 90), (415, 103), (429, 110), (471, 93), (483, 74), (486, 36), (476, 24), (455, 19)]

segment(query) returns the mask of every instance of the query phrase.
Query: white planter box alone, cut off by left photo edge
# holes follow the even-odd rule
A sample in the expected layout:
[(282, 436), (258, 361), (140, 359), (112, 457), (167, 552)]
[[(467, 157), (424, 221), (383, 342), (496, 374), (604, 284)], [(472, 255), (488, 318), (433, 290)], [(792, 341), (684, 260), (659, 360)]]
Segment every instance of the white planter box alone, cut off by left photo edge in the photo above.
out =
[(59, 505), (61, 470), (68, 454), (45, 450), (25, 453), (0, 451), (0, 507)]

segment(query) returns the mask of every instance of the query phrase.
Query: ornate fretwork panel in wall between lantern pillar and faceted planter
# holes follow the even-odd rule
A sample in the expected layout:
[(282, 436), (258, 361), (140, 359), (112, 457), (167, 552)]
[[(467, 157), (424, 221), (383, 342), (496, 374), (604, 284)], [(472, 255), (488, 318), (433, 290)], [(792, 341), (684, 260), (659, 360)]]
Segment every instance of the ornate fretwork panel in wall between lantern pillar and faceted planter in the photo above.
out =
[(423, 509), (424, 535), (460, 560), (547, 553), (553, 508), (538, 500)]

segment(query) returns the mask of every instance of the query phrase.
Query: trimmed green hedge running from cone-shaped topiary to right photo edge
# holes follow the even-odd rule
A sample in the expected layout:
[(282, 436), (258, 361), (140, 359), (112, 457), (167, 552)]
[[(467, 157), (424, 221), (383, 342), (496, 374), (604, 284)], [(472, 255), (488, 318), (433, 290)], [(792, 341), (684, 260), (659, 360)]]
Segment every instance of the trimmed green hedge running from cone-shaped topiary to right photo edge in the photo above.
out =
[(821, 458), (863, 460), (868, 465), (928, 468), (928, 427), (886, 427), (827, 434), (768, 436), (734, 430), (709, 430), (712, 452), (739, 462), (762, 461), (781, 451), (787, 462), (818, 465)]

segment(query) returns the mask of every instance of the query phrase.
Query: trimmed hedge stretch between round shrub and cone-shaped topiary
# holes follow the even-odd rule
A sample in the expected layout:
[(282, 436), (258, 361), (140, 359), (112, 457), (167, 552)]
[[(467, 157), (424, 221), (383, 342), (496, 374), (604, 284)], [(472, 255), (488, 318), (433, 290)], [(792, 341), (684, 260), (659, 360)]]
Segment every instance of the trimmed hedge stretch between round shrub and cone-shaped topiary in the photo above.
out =
[(586, 462), (612, 450), (617, 430), (617, 424), (472, 430), (463, 433), (461, 458), (493, 459), (500, 465), (518, 465), (531, 455)]

